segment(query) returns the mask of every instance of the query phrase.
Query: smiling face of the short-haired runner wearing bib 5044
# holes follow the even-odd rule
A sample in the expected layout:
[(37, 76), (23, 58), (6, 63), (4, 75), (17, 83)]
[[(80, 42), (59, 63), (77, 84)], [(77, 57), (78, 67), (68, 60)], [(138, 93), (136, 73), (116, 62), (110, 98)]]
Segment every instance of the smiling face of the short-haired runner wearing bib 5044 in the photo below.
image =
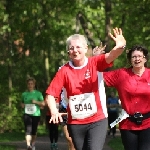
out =
[(80, 61), (85, 57), (87, 46), (79, 39), (71, 40), (69, 45), (69, 57), (72, 61)]

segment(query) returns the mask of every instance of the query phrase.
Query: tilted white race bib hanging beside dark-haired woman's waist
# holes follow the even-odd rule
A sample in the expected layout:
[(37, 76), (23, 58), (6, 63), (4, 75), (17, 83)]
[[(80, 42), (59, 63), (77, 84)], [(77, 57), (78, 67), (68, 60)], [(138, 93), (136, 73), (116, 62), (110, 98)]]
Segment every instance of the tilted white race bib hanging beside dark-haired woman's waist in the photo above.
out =
[(122, 109), (121, 113), (119, 114), (119, 117), (110, 124), (110, 127), (113, 128), (116, 124), (118, 124), (122, 120), (126, 119), (127, 117), (129, 117), (129, 115), (127, 114), (127, 112), (124, 109)]

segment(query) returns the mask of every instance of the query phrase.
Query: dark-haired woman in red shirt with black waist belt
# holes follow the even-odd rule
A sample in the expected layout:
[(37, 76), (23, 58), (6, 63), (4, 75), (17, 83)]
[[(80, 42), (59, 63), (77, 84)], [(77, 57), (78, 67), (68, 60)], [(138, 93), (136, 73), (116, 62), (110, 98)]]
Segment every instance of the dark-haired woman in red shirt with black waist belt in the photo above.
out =
[(131, 65), (103, 73), (107, 86), (115, 87), (123, 111), (112, 124), (119, 123), (125, 150), (150, 149), (150, 69), (146, 67), (148, 50), (133, 46), (127, 53)]

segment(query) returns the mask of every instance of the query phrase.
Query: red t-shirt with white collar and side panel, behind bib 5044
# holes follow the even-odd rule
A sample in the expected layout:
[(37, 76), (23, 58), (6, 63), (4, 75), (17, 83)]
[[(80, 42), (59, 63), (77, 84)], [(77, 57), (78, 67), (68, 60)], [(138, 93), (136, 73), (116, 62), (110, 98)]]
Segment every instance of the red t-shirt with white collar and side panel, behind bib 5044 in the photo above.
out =
[(107, 64), (105, 55), (94, 56), (85, 59), (81, 67), (74, 67), (69, 61), (55, 75), (46, 93), (58, 96), (64, 87), (67, 98), (84, 93), (94, 93), (97, 105), (97, 113), (84, 119), (73, 119), (68, 105), (68, 124), (87, 124), (107, 117), (106, 95), (103, 83), (102, 71), (112, 66)]

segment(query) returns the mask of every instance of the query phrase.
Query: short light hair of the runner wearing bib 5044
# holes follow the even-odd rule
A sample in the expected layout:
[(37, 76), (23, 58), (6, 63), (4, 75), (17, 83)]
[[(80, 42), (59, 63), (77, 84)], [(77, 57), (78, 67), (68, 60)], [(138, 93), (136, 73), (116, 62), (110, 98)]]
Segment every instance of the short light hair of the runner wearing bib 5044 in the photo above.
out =
[(67, 38), (67, 40), (66, 40), (66, 50), (68, 51), (69, 50), (69, 45), (70, 45), (70, 42), (72, 41), (72, 40), (81, 40), (82, 41), (82, 44), (84, 45), (84, 46), (87, 46), (87, 40), (86, 40), (86, 38), (85, 38), (85, 36), (84, 35), (81, 35), (81, 34), (73, 34), (73, 35), (71, 35), (71, 36), (69, 36), (68, 38)]

